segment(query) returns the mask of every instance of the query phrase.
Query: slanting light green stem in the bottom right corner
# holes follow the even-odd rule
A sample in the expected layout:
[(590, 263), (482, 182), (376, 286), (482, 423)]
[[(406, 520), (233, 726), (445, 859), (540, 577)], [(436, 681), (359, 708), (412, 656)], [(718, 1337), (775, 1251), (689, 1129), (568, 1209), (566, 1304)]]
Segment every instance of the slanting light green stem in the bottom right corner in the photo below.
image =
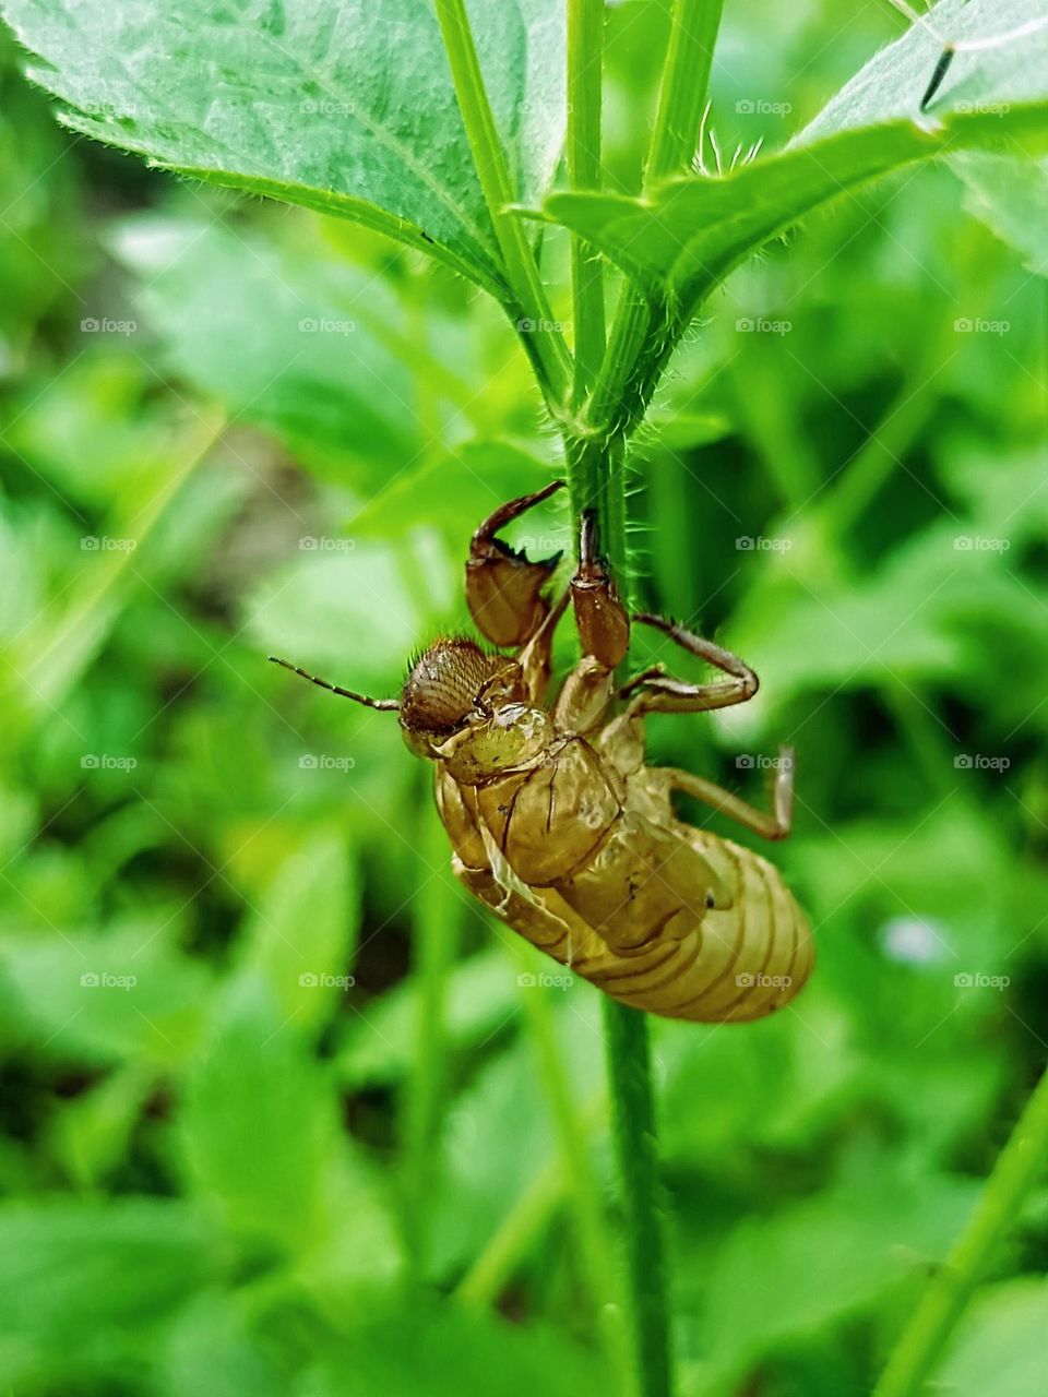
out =
[(1048, 1071), (998, 1155), (975, 1211), (903, 1330), (873, 1397), (924, 1391), (943, 1345), (1048, 1160)]

